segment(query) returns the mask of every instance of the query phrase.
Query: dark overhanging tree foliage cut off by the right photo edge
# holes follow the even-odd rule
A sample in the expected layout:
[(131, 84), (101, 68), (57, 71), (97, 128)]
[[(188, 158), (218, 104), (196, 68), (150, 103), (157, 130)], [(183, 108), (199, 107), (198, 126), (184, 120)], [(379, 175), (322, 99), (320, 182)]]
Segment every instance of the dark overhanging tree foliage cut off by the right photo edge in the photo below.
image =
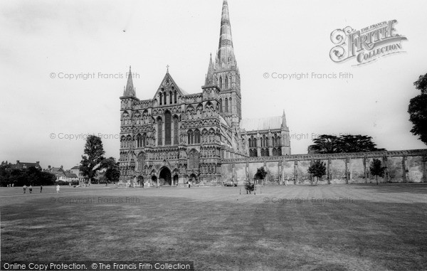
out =
[(427, 144), (427, 73), (420, 75), (413, 85), (421, 94), (409, 101), (409, 120), (413, 124), (411, 133), (418, 135), (418, 139)]

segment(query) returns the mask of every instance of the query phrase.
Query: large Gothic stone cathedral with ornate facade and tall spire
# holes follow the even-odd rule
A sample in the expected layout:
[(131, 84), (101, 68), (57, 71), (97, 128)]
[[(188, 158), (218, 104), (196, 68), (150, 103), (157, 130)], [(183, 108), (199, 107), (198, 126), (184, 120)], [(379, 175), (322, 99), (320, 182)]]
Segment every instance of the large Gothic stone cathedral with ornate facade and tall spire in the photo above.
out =
[(241, 76), (226, 0), (218, 51), (214, 60), (211, 55), (201, 92), (185, 92), (167, 70), (150, 100), (137, 98), (128, 76), (120, 102), (122, 182), (222, 184), (230, 179), (221, 174), (225, 159), (290, 155), (284, 111), (278, 117), (242, 119)]

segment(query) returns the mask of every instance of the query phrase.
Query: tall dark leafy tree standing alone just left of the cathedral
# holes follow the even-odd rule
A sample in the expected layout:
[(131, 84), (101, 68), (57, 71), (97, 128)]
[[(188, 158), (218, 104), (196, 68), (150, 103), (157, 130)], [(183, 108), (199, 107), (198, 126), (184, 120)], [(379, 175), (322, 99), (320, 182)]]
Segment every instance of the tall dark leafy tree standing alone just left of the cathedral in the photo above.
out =
[(97, 171), (102, 169), (102, 161), (104, 158), (104, 147), (102, 147), (102, 140), (100, 137), (90, 135), (86, 139), (84, 154), (82, 161), (80, 161), (80, 171), (90, 183), (95, 181)]

